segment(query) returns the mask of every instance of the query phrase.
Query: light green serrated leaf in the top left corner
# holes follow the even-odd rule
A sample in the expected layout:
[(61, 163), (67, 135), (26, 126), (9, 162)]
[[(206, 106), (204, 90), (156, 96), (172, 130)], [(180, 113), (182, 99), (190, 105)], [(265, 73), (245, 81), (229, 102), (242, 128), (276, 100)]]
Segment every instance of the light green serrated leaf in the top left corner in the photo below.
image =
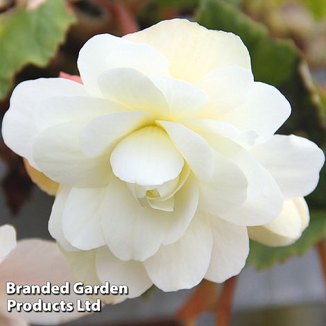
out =
[(74, 21), (65, 0), (47, 0), (35, 10), (21, 7), (0, 15), (0, 99), (22, 67), (44, 67), (49, 62)]

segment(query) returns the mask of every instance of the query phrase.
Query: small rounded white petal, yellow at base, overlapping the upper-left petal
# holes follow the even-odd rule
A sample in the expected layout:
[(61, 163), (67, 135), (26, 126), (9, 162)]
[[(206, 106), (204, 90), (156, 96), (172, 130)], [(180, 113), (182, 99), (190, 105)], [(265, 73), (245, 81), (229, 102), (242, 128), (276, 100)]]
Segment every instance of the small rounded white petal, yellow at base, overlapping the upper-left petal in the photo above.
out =
[(124, 105), (128, 110), (147, 111), (157, 119), (169, 117), (164, 94), (148, 76), (136, 69), (117, 68), (98, 76), (98, 85), (105, 98)]

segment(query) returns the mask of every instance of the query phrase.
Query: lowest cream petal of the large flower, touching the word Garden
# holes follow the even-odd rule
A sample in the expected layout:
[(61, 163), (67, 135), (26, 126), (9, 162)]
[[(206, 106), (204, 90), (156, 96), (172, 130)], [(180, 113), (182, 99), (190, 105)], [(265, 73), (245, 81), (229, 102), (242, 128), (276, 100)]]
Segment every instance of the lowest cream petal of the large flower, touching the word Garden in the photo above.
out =
[(129, 290), (128, 298), (138, 297), (153, 285), (143, 263), (135, 260), (121, 261), (108, 247), (96, 251), (96, 272), (101, 282), (126, 284)]

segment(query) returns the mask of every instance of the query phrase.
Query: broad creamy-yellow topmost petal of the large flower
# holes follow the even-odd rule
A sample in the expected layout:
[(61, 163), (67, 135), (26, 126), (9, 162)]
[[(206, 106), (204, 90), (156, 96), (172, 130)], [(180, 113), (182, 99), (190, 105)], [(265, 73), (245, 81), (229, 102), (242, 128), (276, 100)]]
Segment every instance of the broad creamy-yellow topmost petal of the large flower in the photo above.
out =
[(163, 53), (174, 78), (193, 82), (218, 67), (250, 69), (250, 56), (237, 35), (209, 31), (187, 19), (160, 22), (123, 39), (146, 43)]

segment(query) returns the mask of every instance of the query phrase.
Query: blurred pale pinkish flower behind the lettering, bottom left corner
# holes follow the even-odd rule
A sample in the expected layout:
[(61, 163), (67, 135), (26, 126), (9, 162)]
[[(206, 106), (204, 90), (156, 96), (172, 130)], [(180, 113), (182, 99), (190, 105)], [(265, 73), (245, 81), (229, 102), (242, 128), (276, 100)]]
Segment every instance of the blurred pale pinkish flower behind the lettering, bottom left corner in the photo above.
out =
[(1, 326), (28, 326), (29, 323), (40, 325), (58, 325), (69, 320), (83, 317), (84, 314), (71, 312), (35, 312), (7, 311), (7, 300), (17, 302), (37, 302), (40, 298), (44, 302), (74, 302), (88, 300), (86, 295), (26, 295), (6, 294), (6, 282), (25, 285), (62, 285), (65, 282), (74, 284), (76, 279), (71, 273), (65, 257), (54, 241), (43, 239), (23, 239), (16, 242), (16, 232), (11, 225), (0, 227), (0, 325)]

